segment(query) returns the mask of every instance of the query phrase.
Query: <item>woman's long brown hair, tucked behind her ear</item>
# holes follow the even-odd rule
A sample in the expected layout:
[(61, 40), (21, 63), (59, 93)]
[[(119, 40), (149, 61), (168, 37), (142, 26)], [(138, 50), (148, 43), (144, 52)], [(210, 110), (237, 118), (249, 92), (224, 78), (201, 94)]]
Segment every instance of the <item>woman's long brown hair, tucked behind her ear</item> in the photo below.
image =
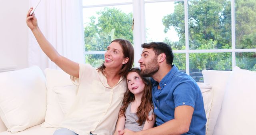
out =
[[(119, 74), (124, 76), (128, 73), (128, 71), (132, 68), (132, 64), (134, 62), (134, 48), (132, 46), (132, 43), (128, 40), (124, 39), (115, 39), (112, 42), (117, 42), (121, 45), (124, 58), (129, 58), (128, 62), (126, 64), (123, 64), (122, 69), (119, 71)], [(100, 66), (100, 70), (104, 71), (105, 66), (104, 63)]]

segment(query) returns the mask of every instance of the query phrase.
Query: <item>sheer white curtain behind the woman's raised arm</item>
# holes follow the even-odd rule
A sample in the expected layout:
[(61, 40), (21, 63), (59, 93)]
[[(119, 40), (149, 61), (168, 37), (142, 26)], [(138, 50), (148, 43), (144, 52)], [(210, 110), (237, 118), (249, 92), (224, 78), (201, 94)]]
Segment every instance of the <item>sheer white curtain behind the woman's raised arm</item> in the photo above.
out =
[[(39, 0), (29, 0), (33, 7)], [(41, 0), (35, 10), (38, 26), (58, 53), (74, 62), (84, 62), (84, 38), (80, 0)], [(29, 30), (28, 65), (59, 69), (40, 49)]]

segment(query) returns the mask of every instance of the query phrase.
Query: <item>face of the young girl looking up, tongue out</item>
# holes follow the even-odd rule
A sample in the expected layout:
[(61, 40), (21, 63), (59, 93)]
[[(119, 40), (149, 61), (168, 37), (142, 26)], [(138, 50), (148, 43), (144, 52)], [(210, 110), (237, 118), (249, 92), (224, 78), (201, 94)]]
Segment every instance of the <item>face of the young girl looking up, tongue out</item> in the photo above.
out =
[(136, 73), (135, 71), (128, 73), (126, 80), (127, 80), (128, 89), (134, 95), (143, 93), (145, 83), (143, 82), (142, 78), (138, 73)]

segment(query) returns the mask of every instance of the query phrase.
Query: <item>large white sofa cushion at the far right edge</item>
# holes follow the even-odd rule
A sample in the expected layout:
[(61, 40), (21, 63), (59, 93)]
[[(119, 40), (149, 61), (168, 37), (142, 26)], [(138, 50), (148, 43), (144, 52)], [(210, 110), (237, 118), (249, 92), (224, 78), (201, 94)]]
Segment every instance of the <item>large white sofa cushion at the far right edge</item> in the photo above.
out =
[(256, 127), (256, 72), (234, 67), (214, 135), (252, 135)]

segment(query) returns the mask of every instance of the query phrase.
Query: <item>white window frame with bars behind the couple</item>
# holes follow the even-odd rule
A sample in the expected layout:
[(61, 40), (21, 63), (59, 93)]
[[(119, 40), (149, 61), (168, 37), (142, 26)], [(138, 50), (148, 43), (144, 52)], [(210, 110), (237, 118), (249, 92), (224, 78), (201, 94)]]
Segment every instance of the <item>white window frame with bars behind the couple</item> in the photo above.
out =
[[(81, 5), (82, 5), (82, 0)], [(188, 42), (188, 0), (133, 0), (132, 2), (117, 3), (117, 4), (102, 4), (102, 5), (92, 5), (92, 6), (81, 6), (81, 12), (83, 8), (101, 7), (101, 6), (118, 6), (118, 5), (133, 5), (133, 18), (134, 18), (134, 66), (139, 67), (138, 60), (140, 59), (140, 54), (142, 48), (141, 44), (146, 42), (146, 25), (145, 25), (145, 4), (154, 2), (176, 2), (184, 1), (184, 14), (185, 14), (185, 50), (173, 50), (174, 53), (184, 53), (186, 54), (186, 73), (189, 75), (189, 54), (190, 53), (222, 53), (230, 52), (232, 53), (232, 68), (236, 66), (236, 52), (256, 52), (256, 49), (236, 49), (235, 40), (235, 0), (231, 0), (231, 34), (232, 34), (232, 48), (231, 49), (212, 49), (212, 50), (190, 50)], [(83, 14), (83, 12), (82, 12)], [(82, 22), (83, 23), (83, 22)], [(104, 54), (105, 51), (90, 51), (85, 52), (86, 54)]]

